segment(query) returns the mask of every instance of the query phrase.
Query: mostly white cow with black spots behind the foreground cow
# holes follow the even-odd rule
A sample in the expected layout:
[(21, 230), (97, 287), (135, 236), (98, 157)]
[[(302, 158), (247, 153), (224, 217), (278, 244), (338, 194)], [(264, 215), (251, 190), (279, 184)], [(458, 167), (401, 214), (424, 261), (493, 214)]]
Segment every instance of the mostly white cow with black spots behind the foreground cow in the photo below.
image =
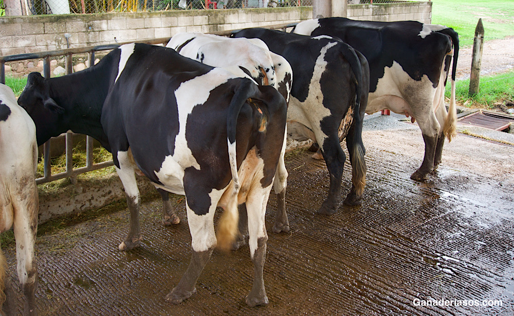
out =
[[(258, 38), (228, 38), (204, 33), (178, 33), (166, 47), (173, 48), (180, 55), (213, 67), (223, 67), (235, 75), (249, 74), (258, 84), (276, 88), (289, 102), (292, 85), (292, 70), (284, 57), (269, 51)], [(285, 151), (285, 147), (284, 147)], [(277, 194), (277, 218), (273, 225), (276, 233), (289, 231), (285, 208), (287, 170), (283, 154), (277, 169), (277, 178), (283, 179), (273, 186)], [(242, 218), (243, 219), (243, 218)], [(240, 221), (242, 220), (240, 219)], [(241, 222), (241, 229), (245, 222)]]

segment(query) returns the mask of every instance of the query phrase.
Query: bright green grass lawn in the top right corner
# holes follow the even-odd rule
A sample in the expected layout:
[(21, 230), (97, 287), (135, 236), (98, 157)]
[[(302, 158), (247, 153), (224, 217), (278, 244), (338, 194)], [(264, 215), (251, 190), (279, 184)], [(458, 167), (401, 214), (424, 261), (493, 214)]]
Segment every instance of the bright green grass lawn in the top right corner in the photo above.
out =
[(514, 35), (512, 0), (432, 0), (432, 23), (453, 28), (460, 46), (473, 45), (476, 23), (482, 18), (485, 40)]

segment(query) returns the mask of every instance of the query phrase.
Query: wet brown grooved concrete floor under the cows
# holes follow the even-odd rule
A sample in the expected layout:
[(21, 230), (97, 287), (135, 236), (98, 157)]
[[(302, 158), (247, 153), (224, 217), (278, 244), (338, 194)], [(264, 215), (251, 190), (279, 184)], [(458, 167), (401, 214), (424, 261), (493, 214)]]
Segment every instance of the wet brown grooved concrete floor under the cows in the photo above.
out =
[[(438, 171), (419, 183), (409, 179), (423, 156), (419, 129), (382, 117), (366, 126), (362, 206), (315, 214), (328, 190), (325, 164), (305, 151), (287, 157), (291, 231), (271, 231), (273, 194), (266, 214), (268, 306), (244, 303), (253, 280), (248, 246), (215, 251), (193, 297), (179, 305), (164, 301), (191, 255), (178, 197), (182, 221), (173, 227), (161, 226), (159, 199), (143, 203), (142, 245), (133, 251), (118, 250), (126, 209), (98, 211), (39, 236), (40, 314), (514, 315), (514, 147), (458, 135)], [(346, 164), (342, 198), (350, 180)], [(13, 245), (4, 252), (17, 280)], [(502, 306), (426, 307), (415, 306), (416, 299), (501, 300)]]

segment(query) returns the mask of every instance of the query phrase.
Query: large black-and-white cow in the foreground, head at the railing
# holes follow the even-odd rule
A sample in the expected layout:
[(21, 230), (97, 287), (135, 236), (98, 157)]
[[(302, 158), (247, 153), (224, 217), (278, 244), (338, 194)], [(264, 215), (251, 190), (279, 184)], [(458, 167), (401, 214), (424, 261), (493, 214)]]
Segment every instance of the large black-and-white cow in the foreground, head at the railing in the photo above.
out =
[[(38, 139), (71, 129), (95, 137), (113, 153), (131, 213), (130, 231), (120, 249), (131, 249), (141, 240), (136, 168), (156, 187), (186, 195), (193, 254), (167, 295), (172, 303), (195, 292), (216, 243), (230, 247), (237, 205), (246, 203), (255, 268), (246, 302), (267, 304), (264, 215), (287, 111), (277, 90), (172, 49), (128, 44), (84, 71), (49, 79), (29, 74), (18, 102), (38, 126)], [(216, 206), (225, 209), (217, 240)]]

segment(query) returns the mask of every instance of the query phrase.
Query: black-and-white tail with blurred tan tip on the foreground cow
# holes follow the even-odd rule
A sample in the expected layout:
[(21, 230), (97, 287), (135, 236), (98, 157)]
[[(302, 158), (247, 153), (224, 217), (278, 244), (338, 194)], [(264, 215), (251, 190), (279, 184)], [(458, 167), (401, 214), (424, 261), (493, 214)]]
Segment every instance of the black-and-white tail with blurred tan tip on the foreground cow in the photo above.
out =
[[(239, 193), (240, 183), (239, 175), (237, 174), (237, 160), (236, 160), (236, 144), (235, 133), (237, 125), (237, 117), (245, 104), (246, 100), (258, 93), (257, 86), (250, 80), (238, 86), (235, 90), (232, 101), (230, 102), (227, 115), (227, 143), (228, 143), (228, 156), (230, 171), (232, 173), (232, 192), (230, 194), (227, 207), (223, 212), (222, 218), (219, 220), (217, 242), (218, 247), (223, 250), (229, 250), (232, 242), (237, 234), (237, 224), (239, 221), (239, 212), (237, 210), (237, 194)], [(230, 188), (229, 188), (230, 190)]]

